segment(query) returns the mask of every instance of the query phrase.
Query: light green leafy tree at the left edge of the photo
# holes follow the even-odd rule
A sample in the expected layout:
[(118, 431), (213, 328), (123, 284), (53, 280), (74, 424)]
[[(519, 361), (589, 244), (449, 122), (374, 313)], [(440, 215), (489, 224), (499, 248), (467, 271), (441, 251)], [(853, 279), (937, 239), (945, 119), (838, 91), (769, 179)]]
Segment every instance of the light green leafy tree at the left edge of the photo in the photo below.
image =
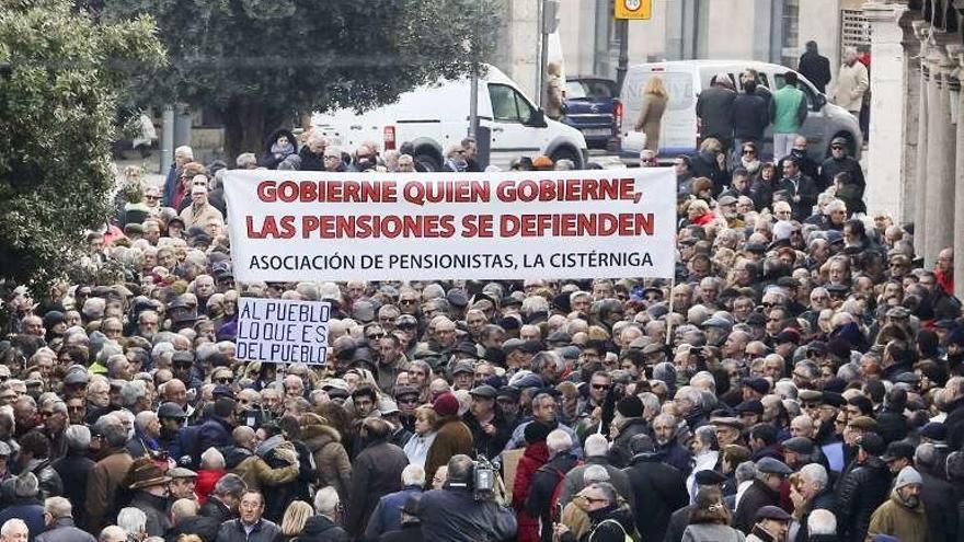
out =
[(154, 24), (0, 0), (0, 278), (42, 287), (111, 214), (118, 92), (163, 64)]

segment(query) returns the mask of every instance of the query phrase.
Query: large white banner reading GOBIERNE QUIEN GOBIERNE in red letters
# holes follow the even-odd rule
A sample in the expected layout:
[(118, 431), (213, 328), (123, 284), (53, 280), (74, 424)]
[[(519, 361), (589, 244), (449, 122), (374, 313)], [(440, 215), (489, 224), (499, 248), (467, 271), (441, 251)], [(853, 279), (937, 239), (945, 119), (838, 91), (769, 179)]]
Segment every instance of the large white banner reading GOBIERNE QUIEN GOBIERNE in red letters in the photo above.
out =
[(672, 277), (672, 169), (225, 178), (239, 281)]

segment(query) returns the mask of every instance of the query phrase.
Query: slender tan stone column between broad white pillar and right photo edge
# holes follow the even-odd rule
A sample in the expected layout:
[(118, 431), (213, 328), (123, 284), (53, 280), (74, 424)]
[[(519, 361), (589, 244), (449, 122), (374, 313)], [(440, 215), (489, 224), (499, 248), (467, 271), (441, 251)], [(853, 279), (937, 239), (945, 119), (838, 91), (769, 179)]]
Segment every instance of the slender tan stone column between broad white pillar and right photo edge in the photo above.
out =
[(928, 160), (927, 237), (923, 246), (925, 266), (933, 267), (942, 249), (954, 242), (954, 155), (956, 129), (951, 124), (950, 77), (953, 64), (943, 47), (933, 47), (927, 57), (930, 69), (928, 83)]

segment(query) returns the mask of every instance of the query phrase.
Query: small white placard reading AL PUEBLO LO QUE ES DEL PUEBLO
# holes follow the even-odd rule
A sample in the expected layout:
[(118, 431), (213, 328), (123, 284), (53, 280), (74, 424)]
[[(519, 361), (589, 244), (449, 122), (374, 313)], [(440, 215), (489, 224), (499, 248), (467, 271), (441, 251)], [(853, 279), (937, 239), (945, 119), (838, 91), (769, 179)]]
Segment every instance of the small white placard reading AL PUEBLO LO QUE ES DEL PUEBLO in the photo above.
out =
[(331, 303), (239, 298), (236, 357), (244, 361), (323, 365)]

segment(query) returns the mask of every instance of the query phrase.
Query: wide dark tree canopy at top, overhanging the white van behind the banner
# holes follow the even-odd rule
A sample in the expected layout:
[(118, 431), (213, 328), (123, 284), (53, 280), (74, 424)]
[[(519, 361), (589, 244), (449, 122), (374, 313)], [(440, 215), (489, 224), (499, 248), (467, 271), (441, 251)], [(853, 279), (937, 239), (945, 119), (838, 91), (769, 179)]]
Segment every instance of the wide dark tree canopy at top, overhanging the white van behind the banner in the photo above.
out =
[(498, 24), (498, 0), (113, 0), (148, 13), (170, 65), (146, 91), (220, 113), (226, 153), (261, 152), (298, 115), (368, 108), (466, 73)]

